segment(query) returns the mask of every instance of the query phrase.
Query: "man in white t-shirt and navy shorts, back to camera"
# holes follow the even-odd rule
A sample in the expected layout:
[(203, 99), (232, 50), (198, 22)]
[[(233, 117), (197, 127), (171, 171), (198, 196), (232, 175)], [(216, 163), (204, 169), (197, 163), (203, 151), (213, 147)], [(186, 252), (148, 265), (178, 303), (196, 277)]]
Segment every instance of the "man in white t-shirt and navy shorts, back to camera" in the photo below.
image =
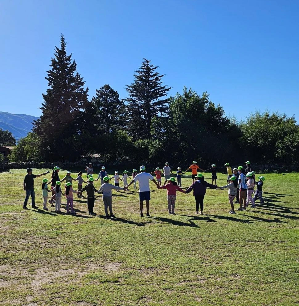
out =
[(150, 189), (149, 189), (149, 180), (153, 181), (157, 188), (159, 189), (157, 181), (154, 177), (145, 172), (145, 166), (140, 166), (140, 173), (138, 173), (133, 180), (129, 183), (124, 190), (128, 189), (133, 182), (139, 182), (139, 199), (140, 199), (140, 216), (143, 217), (143, 201), (145, 200), (146, 203), (146, 216), (150, 217), (149, 215), (149, 200), (150, 200)]

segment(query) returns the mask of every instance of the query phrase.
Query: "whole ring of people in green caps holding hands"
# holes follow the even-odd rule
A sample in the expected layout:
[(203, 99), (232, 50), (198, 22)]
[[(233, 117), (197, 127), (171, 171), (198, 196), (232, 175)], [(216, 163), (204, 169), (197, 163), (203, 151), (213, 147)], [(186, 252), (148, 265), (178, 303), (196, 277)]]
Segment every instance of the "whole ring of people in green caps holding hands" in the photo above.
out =
[[(185, 174), (186, 171), (182, 171), (180, 167), (178, 167), (176, 173), (170, 169), (168, 162), (165, 163), (165, 167), (160, 170), (158, 167), (155, 171), (151, 173), (145, 172), (145, 166), (140, 166), (139, 173), (137, 169), (133, 169), (132, 178), (133, 180), (128, 184), (128, 171), (124, 171), (122, 178), (119, 176), (118, 171), (115, 171), (115, 175), (109, 178), (105, 167), (102, 167), (98, 177), (93, 178), (93, 169), (92, 164), (90, 163), (86, 168), (87, 172), (87, 181), (83, 179), (83, 173), (79, 172), (77, 178), (72, 178), (71, 171), (67, 171), (67, 175), (60, 180), (59, 178), (59, 167), (54, 167), (51, 179), (48, 180), (44, 178), (42, 181), (42, 191), (43, 191), (43, 209), (49, 210), (47, 208), (47, 203), (50, 203), (51, 206), (54, 207), (55, 204), (55, 212), (61, 213), (60, 204), (62, 195), (66, 196), (66, 212), (71, 214), (76, 214), (73, 207), (73, 194), (76, 193), (77, 197), (84, 197), (82, 192), (87, 192), (87, 206), (89, 215), (96, 215), (93, 212), (93, 207), (95, 203), (95, 192), (103, 194), (102, 199), (104, 203), (105, 210), (105, 218), (115, 218), (112, 211), (112, 189), (119, 190), (128, 190), (129, 186), (134, 184), (133, 189), (137, 189), (136, 182), (139, 183), (139, 199), (140, 199), (140, 216), (143, 216), (143, 202), (146, 203), (146, 216), (149, 215), (149, 200), (150, 200), (150, 188), (149, 181), (153, 181), (158, 189), (166, 189), (167, 190), (167, 201), (168, 201), (168, 211), (170, 214), (175, 215), (174, 207), (176, 200), (176, 192), (180, 191), (182, 193), (189, 193), (193, 190), (193, 195), (196, 203), (196, 212), (195, 214), (203, 214), (203, 200), (206, 194), (207, 187), (216, 189), (224, 189), (228, 188), (228, 200), (231, 206), (230, 214), (235, 214), (234, 203), (239, 203), (240, 207), (237, 209), (238, 211), (246, 210), (248, 204), (251, 203), (251, 207), (256, 207), (256, 199), (260, 199), (260, 203), (264, 203), (262, 197), (262, 187), (265, 178), (263, 176), (258, 177), (258, 181), (255, 179), (255, 171), (252, 171), (250, 161), (245, 162), (245, 167), (239, 166), (238, 168), (232, 169), (229, 163), (225, 163), (224, 166), (227, 168), (227, 185), (218, 187), (216, 185), (217, 173), (216, 173), (216, 165), (212, 164), (212, 167), (207, 170), (203, 170), (199, 168), (196, 161), (193, 161), (192, 165), (186, 169), (186, 171), (192, 171), (192, 184), (187, 190), (182, 190), (182, 174)], [(202, 172), (211, 170), (212, 171), (212, 184), (208, 183), (204, 180), (204, 176), (202, 173), (197, 173), (198, 170)], [(32, 174), (32, 169), (27, 169), (27, 175), (24, 179), (24, 190), (26, 191), (26, 198), (24, 201), (23, 208), (27, 209), (27, 202), (29, 197), (31, 196), (32, 207), (38, 208), (35, 205), (35, 192), (34, 192), (34, 178), (38, 178), (42, 175), (50, 173), (47, 171), (46, 173), (35, 175)], [(155, 178), (152, 176), (155, 174)], [(171, 177), (171, 174), (176, 174), (177, 181), (174, 177)], [(224, 173), (226, 174), (226, 173)], [(162, 186), (162, 175), (165, 178), (164, 185)], [(101, 186), (99, 190), (96, 190), (94, 186), (94, 181), (98, 181), (100, 179)], [(114, 179), (114, 185), (110, 184), (109, 181)], [(119, 187), (119, 180), (123, 181), (124, 187)], [(65, 187), (62, 189), (61, 184), (65, 181)], [(73, 186), (73, 181), (78, 181), (78, 190), (75, 191)], [(215, 185), (214, 185), (215, 181)], [(83, 183), (87, 183), (83, 187)], [(51, 184), (51, 188), (48, 188), (48, 184)], [(252, 194), (254, 192), (254, 187), (257, 187), (254, 197)], [(48, 201), (48, 193), (51, 193), (51, 199)], [(236, 201), (234, 202), (236, 198)], [(246, 199), (247, 198), (247, 199)], [(110, 215), (108, 214), (108, 208)]]

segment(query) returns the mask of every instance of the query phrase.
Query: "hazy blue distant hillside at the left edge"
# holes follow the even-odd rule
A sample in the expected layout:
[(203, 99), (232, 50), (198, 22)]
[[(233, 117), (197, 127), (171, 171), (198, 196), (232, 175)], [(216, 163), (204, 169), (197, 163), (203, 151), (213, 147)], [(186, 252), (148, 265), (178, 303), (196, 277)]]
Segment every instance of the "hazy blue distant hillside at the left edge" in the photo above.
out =
[(0, 128), (9, 130), (14, 135), (14, 138), (19, 140), (32, 130), (32, 122), (36, 119), (38, 117), (0, 111)]

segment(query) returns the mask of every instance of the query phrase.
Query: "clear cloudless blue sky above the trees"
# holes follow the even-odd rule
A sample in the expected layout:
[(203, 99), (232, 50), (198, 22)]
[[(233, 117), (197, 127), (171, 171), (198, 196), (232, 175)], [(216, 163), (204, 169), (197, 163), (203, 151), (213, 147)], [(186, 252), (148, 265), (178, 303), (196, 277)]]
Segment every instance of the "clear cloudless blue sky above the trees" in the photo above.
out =
[(67, 51), (89, 87), (121, 98), (145, 57), (228, 116), (285, 112), (299, 120), (299, 1), (1, 1), (0, 111), (41, 114), (54, 48)]

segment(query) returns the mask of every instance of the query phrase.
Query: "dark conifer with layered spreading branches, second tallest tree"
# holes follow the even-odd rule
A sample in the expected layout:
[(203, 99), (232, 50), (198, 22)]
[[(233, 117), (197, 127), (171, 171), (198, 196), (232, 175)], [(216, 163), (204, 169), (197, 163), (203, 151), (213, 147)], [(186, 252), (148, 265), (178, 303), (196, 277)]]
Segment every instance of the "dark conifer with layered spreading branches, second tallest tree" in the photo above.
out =
[(151, 137), (152, 118), (163, 115), (167, 109), (168, 98), (166, 96), (171, 87), (163, 86), (164, 74), (156, 71), (158, 67), (152, 65), (149, 60), (143, 59), (139, 70), (134, 74), (135, 81), (126, 86), (129, 97), (127, 111), (130, 120), (127, 122), (128, 132), (134, 138)]

